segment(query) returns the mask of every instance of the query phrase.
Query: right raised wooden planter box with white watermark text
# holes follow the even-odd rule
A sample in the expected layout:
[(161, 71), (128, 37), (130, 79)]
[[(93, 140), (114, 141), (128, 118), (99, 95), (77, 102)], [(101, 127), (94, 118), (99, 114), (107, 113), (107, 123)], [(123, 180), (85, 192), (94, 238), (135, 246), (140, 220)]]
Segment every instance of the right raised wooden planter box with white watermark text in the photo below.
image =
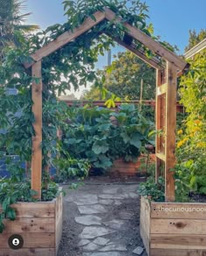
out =
[(205, 256), (206, 203), (149, 203), (141, 198), (148, 256)]

